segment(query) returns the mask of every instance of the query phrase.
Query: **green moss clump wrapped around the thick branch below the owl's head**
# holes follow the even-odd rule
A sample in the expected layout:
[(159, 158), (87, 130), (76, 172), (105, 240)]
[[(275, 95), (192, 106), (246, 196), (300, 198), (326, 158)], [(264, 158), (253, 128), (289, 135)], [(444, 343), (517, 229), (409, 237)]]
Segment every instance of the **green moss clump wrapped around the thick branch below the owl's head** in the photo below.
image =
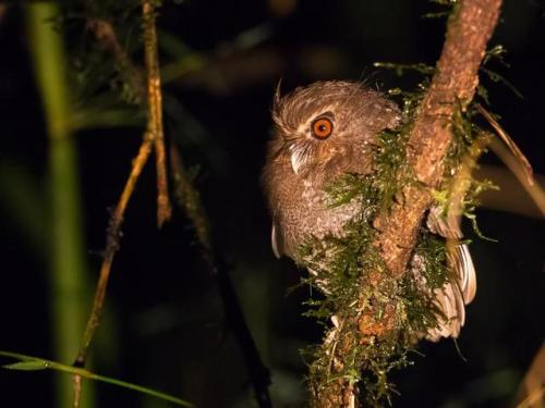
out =
[[(402, 126), (379, 135), (373, 174), (346, 174), (328, 186), (332, 207), (354, 199), (362, 203), (361, 211), (344, 225), (342, 237), (308, 238), (299, 251), (299, 259), (311, 271), (305, 282), (325, 294), (323, 299), (306, 302), (310, 310), (305, 314), (329, 327), (324, 344), (306, 350), (313, 359), (311, 388), (342, 380), (362, 386), (362, 400), (368, 406), (390, 400), (395, 388), (388, 373), (409, 363), (408, 354), (416, 336), (405, 330), (416, 326), (407, 324), (407, 290), (389, 279), (383, 258), (372, 245), (377, 234), (373, 220), (380, 211), (388, 211), (401, 186), (411, 181), (410, 172), (400, 171), (407, 168), (407, 133)], [(427, 305), (428, 300), (419, 301)], [(328, 324), (330, 319), (332, 326)], [(384, 335), (370, 336), (366, 331)]]

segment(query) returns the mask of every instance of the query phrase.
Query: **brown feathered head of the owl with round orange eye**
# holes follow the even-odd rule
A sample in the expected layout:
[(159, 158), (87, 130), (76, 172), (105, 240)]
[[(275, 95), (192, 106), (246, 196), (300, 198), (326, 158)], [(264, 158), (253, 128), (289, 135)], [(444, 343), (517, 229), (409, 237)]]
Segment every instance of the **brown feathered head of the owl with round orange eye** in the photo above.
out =
[(354, 161), (363, 168), (376, 134), (395, 127), (400, 113), (393, 102), (363, 84), (330, 81), (283, 97), (277, 89), (272, 119), (276, 153), (287, 156), (293, 172), (303, 174), (316, 166), (354, 171)]

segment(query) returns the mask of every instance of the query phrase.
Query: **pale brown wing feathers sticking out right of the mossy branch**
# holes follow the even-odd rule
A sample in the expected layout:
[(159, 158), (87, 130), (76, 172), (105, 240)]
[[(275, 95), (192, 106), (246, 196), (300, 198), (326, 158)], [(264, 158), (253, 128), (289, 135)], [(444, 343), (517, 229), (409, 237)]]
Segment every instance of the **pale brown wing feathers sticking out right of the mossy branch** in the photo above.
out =
[(452, 282), (435, 289), (435, 305), (443, 316), (438, 317), (438, 327), (429, 330), (426, 338), (438, 341), (440, 337), (458, 337), (465, 322), (465, 305), (475, 297), (475, 268), (465, 244), (459, 244), (462, 238), (460, 219), (458, 215), (444, 215), (440, 208), (429, 210), (428, 228), (447, 238), (447, 260), (453, 274)]

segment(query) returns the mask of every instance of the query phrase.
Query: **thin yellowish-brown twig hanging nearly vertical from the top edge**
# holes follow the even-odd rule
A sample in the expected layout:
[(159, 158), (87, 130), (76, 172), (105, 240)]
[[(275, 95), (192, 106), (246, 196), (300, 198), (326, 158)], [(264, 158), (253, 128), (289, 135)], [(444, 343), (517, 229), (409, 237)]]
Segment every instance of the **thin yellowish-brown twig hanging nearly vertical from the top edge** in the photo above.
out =
[(171, 217), (168, 195), (167, 154), (162, 132), (162, 100), (159, 59), (157, 55), (156, 14), (149, 0), (142, 0), (142, 17), (144, 20), (144, 49), (147, 70), (148, 132), (154, 139), (157, 168), (157, 224), (162, 226)]

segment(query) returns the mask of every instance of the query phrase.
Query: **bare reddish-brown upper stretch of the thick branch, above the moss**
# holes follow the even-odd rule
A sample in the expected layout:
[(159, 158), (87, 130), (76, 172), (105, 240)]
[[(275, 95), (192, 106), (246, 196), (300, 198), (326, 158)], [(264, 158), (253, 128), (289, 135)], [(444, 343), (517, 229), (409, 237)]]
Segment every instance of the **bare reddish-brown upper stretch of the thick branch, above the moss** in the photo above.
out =
[(479, 84), (479, 66), (500, 4), (501, 0), (465, 0), (451, 17), (436, 74), (409, 135), (409, 165), (425, 188), (403, 188), (403, 202), (396, 203), (390, 214), (375, 223), (380, 231), (377, 245), (396, 276), (405, 271), (420, 223), (432, 202), (431, 189), (440, 182), (452, 114), (458, 104), (464, 109), (471, 102)]

